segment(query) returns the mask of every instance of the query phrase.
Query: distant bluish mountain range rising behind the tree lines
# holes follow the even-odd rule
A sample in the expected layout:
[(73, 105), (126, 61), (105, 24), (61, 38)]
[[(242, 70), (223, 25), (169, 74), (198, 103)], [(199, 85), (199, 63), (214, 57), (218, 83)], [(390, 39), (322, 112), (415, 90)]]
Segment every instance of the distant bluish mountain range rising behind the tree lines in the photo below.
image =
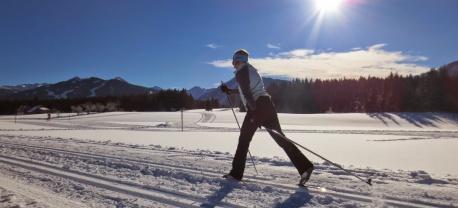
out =
[[(458, 61), (452, 62), (445, 66), (448, 73), (452, 76), (458, 76)], [(441, 67), (443, 68), (443, 67)], [(284, 82), (284, 80), (263, 78), (265, 87), (271, 83)], [(225, 83), (229, 88), (236, 89), (237, 82), (235, 78)], [(160, 87), (143, 87), (128, 83), (126, 80), (116, 77), (114, 79), (104, 80), (97, 77), (79, 78), (74, 77), (67, 81), (55, 84), (37, 83), (21, 84), (16, 86), (0, 86), (0, 99), (2, 100), (25, 100), (25, 99), (66, 99), (80, 97), (98, 97), (114, 95), (130, 95), (153, 93), (162, 90)], [(205, 89), (195, 86), (188, 89), (196, 100), (207, 100), (216, 98), (220, 103), (228, 103), (227, 96), (220, 92), (218, 88)], [(232, 99), (238, 99), (234, 96)], [(236, 101), (233, 101), (236, 102)]]

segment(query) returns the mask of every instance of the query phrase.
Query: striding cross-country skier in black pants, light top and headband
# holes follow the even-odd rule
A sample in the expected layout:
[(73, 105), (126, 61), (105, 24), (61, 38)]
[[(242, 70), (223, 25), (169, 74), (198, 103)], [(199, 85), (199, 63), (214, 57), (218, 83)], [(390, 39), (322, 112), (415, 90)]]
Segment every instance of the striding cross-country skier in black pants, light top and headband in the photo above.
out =
[[(278, 121), (277, 109), (264, 89), (262, 77), (258, 70), (248, 63), (248, 52), (244, 49), (235, 52), (232, 58), (235, 79), (238, 90), (230, 89), (222, 84), (220, 89), (227, 95), (240, 94), (247, 109), (245, 119), (240, 130), (239, 142), (232, 161), (232, 170), (223, 178), (241, 181), (245, 170), (248, 147), (257, 128), (264, 126), (284, 135)], [(290, 141), (269, 132), (270, 136), (283, 148), (300, 175), (299, 185), (305, 184), (314, 170), (313, 164)]]

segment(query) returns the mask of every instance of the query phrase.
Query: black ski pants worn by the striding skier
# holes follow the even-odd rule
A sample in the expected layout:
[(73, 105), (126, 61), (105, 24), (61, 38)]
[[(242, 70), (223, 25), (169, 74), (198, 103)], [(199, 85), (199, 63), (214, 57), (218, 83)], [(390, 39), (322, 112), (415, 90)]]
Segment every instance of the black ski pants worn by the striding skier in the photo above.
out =
[[(275, 130), (284, 135), (280, 127), (280, 122), (278, 121), (277, 110), (270, 97), (259, 97), (256, 100), (256, 106), (256, 111), (258, 111), (260, 114), (260, 118), (258, 119), (260, 120), (262, 126)], [(241, 127), (239, 143), (237, 145), (237, 150), (235, 151), (234, 160), (232, 161), (232, 170), (229, 173), (232, 177), (238, 180), (242, 180), (243, 178), (248, 148), (254, 133), (258, 129), (258, 126), (251, 122), (251, 117), (252, 111), (248, 109)], [(269, 134), (275, 140), (275, 142), (277, 142), (277, 144), (286, 152), (289, 159), (299, 172), (299, 175), (302, 175), (307, 169), (313, 166), (310, 160), (308, 160), (293, 143), (274, 133), (269, 132)]]

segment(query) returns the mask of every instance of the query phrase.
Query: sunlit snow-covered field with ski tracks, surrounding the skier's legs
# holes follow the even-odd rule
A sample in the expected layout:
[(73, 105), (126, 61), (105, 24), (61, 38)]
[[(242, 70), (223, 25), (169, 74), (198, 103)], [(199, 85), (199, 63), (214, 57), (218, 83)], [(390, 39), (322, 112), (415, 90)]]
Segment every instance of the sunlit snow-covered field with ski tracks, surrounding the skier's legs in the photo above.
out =
[(230, 109), (184, 112), (183, 127), (180, 112), (0, 116), (0, 207), (458, 207), (458, 115), (279, 117), (288, 138), (373, 186), (304, 150), (316, 170), (298, 188), (265, 130), (250, 146), (259, 174), (248, 160), (245, 181), (222, 179)]

